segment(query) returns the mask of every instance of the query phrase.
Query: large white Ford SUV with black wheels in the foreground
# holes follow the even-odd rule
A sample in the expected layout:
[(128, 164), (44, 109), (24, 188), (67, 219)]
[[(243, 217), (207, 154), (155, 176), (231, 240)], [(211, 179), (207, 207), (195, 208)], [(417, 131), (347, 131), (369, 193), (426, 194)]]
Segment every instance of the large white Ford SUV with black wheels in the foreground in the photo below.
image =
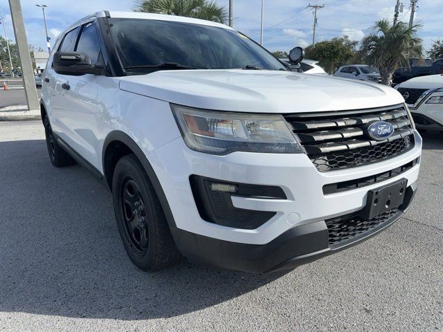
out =
[(46, 68), (51, 162), (109, 187), (143, 270), (290, 268), (383, 230), (417, 188), (422, 139), (397, 91), (293, 73), (228, 26), (97, 12)]

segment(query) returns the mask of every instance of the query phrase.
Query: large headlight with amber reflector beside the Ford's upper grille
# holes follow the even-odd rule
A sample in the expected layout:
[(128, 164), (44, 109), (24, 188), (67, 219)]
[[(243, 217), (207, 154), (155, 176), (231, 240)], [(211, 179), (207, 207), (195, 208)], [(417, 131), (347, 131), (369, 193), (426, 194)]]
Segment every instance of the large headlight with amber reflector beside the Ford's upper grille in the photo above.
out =
[(171, 108), (190, 149), (207, 154), (302, 152), (281, 115), (207, 111), (175, 104)]

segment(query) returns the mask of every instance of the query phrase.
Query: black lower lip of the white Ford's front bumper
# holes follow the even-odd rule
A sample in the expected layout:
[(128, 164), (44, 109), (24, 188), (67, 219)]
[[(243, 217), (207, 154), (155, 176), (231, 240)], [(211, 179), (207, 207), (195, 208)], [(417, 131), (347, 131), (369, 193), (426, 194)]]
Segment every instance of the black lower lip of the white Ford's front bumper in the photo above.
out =
[(404, 214), (416, 190), (417, 183), (408, 187), (401, 210), (391, 219), (368, 232), (343, 241), (339, 246), (329, 245), (325, 221), (290, 228), (271, 242), (262, 245), (222, 241), (178, 229), (174, 229), (173, 234), (183, 255), (199, 264), (251, 273), (284, 270), (332, 255), (388, 228)]

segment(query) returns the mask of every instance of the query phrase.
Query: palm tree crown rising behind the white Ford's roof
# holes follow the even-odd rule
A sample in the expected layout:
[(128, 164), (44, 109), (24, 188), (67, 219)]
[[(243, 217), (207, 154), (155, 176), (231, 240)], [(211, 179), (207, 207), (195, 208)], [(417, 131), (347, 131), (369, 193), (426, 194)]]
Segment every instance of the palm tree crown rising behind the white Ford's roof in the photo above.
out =
[(224, 6), (208, 0), (139, 0), (134, 10), (207, 19), (219, 23), (226, 23), (228, 17)]

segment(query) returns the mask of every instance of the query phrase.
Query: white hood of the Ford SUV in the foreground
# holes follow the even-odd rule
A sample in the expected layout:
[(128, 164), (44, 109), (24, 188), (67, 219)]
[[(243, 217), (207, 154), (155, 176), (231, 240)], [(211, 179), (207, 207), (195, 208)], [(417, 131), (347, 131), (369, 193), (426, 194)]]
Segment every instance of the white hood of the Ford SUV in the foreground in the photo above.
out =
[(189, 107), (255, 113), (365, 109), (404, 102), (388, 86), (290, 71), (156, 71), (123, 77), (120, 89)]

